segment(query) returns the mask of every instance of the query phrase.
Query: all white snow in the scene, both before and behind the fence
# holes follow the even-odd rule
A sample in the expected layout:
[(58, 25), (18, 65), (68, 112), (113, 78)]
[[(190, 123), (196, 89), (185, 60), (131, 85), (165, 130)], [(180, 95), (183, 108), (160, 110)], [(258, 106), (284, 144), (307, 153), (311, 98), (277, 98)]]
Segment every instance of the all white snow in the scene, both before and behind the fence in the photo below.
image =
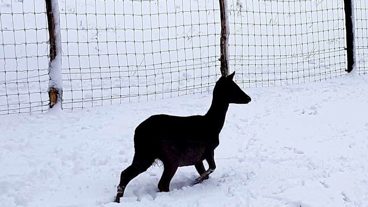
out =
[[(59, 7), (63, 108), (87, 108), (0, 116), (1, 207), (368, 207), (368, 78), (344, 72), (342, 0), (229, 1), (231, 71), (252, 102), (230, 106), (216, 171), (190, 187), (195, 168), (180, 168), (159, 193), (162, 168), (152, 166), (120, 204), (112, 201), (135, 127), (153, 114), (209, 108), (218, 4)], [(368, 73), (367, 8), (355, 1), (359, 74)], [(0, 14), (0, 115), (46, 111), (45, 2), (1, 0)]]

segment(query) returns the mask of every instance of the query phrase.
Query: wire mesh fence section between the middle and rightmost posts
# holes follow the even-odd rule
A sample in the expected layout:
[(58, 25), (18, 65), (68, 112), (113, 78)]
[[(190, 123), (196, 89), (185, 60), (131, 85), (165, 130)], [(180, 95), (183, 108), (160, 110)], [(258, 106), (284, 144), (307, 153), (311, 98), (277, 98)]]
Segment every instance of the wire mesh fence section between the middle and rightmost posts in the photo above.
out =
[(230, 56), (244, 87), (346, 74), (343, 1), (233, 1)]

